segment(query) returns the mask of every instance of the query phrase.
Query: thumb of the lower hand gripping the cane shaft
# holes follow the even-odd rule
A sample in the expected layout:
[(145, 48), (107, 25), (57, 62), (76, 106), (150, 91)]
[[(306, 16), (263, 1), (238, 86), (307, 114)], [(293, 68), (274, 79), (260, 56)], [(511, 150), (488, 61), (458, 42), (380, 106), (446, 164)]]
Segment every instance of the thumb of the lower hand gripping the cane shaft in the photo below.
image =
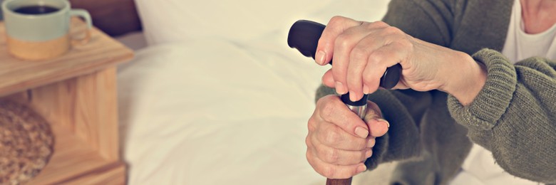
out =
[(365, 122), (369, 127), (369, 134), (372, 137), (383, 136), (388, 132), (388, 128), (390, 127), (390, 123), (383, 119), (379, 105), (371, 101), (367, 101)]

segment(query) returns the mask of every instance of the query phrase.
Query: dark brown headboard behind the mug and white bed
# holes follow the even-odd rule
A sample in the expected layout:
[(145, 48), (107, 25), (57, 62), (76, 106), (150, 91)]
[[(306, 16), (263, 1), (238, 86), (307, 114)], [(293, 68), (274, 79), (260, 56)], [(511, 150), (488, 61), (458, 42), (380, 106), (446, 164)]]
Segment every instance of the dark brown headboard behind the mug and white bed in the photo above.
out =
[(93, 25), (110, 36), (141, 30), (133, 0), (70, 0), (73, 9), (86, 9)]

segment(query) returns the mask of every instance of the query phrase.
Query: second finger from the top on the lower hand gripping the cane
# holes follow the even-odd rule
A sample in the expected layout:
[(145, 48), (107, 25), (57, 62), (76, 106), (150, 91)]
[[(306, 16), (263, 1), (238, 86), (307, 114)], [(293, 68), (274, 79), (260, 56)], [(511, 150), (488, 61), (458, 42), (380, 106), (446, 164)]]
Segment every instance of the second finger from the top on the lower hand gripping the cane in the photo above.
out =
[(369, 140), (372, 139), (356, 137), (331, 123), (321, 124), (321, 127), (314, 132), (313, 137), (312, 143), (314, 144), (324, 144), (327, 147), (350, 151), (369, 148)]

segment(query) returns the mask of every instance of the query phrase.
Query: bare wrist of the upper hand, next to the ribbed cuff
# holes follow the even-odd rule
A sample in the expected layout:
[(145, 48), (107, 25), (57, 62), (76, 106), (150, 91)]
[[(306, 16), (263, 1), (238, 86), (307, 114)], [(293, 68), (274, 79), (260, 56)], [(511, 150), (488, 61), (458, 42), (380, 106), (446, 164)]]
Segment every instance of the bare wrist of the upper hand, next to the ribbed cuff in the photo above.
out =
[(448, 70), (448, 81), (441, 86), (442, 90), (453, 95), (461, 105), (469, 105), (485, 85), (487, 73), (485, 66), (473, 60), (467, 53), (455, 51), (453, 70)]

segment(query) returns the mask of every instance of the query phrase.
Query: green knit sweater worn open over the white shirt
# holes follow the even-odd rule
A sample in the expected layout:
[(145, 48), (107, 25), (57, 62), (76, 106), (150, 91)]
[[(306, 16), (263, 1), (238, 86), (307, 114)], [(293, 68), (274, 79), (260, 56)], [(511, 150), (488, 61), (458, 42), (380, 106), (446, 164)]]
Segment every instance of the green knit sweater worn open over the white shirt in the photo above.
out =
[[(383, 21), (423, 41), (463, 51), (483, 63), (488, 78), (462, 106), (433, 90), (379, 90), (369, 96), (386, 120), (368, 169), (402, 161), (392, 183), (448, 184), (471, 142), (493, 152), (509, 174), (556, 184), (556, 63), (528, 58), (515, 65), (500, 51), (513, 0), (392, 0)], [(334, 94), (321, 86), (316, 99)]]

